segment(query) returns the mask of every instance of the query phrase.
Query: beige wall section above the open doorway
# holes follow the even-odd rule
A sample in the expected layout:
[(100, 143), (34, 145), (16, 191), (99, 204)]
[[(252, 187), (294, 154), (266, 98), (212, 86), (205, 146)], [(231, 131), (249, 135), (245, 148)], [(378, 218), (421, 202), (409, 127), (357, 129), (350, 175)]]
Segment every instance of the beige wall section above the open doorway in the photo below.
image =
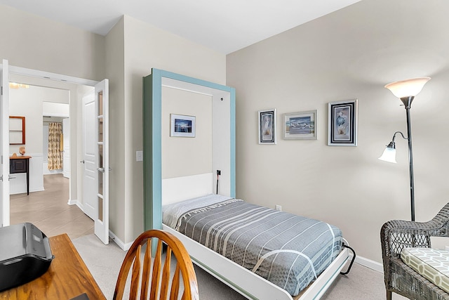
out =
[(0, 57), (10, 65), (93, 80), (104, 78), (104, 37), (3, 5), (0, 22)]

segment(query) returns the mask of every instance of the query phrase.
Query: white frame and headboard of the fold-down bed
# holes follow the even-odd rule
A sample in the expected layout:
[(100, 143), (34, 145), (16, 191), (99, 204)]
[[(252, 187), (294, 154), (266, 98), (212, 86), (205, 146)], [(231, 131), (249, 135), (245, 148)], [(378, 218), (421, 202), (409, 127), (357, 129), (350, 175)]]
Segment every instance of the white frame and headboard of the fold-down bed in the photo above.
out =
[[(206, 188), (205, 188), (206, 187)], [(213, 174), (200, 174), (196, 176), (163, 179), (162, 204), (179, 202), (181, 200), (200, 197), (211, 194), (213, 190)], [(194, 263), (206, 270), (218, 280), (224, 282), (236, 292), (248, 299), (292, 300), (293, 297), (272, 282), (256, 275), (242, 266), (217, 254), (199, 242), (177, 232), (173, 228), (162, 224), (163, 230), (167, 230), (185, 245)], [(333, 280), (337, 278), (344, 265), (349, 260), (347, 248), (343, 248), (337, 258), (324, 270), (305, 292), (295, 299), (309, 300), (320, 299)]]

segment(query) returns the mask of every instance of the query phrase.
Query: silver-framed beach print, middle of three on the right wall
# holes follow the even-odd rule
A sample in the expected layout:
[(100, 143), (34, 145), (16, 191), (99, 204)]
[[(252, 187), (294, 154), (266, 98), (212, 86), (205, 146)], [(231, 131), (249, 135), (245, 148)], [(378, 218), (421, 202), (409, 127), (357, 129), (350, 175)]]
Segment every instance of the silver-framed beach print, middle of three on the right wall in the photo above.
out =
[(283, 138), (286, 140), (316, 140), (316, 110), (284, 114)]

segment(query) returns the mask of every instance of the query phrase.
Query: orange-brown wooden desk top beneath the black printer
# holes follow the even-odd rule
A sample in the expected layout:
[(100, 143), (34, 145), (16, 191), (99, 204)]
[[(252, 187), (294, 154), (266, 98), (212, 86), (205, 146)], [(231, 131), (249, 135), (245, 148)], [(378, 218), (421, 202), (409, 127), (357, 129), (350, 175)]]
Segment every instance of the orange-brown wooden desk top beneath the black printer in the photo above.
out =
[(1, 300), (69, 300), (86, 293), (89, 299), (106, 299), (68, 235), (50, 237), (55, 259), (41, 277), (0, 292)]

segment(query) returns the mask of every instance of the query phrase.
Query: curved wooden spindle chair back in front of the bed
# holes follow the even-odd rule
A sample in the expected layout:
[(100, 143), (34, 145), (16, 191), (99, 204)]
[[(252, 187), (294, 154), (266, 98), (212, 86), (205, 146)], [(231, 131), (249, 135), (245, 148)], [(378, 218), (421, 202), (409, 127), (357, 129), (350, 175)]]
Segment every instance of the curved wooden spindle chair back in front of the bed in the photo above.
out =
[[(157, 243), (156, 254), (152, 257), (152, 243), (155, 242)], [(165, 259), (163, 259), (163, 244), (166, 244)], [(144, 245), (146, 249), (142, 263), (141, 251)], [(173, 262), (173, 256), (175, 256), (176, 267), (172, 277), (170, 265)], [(114, 300), (123, 299), (131, 266), (133, 270), (130, 278), (129, 299), (179, 299), (180, 287), (184, 287), (181, 299), (199, 299), (192, 260), (182, 242), (171, 233), (163, 230), (147, 230), (133, 242), (121, 265)], [(138, 298), (139, 295), (140, 298)]]

